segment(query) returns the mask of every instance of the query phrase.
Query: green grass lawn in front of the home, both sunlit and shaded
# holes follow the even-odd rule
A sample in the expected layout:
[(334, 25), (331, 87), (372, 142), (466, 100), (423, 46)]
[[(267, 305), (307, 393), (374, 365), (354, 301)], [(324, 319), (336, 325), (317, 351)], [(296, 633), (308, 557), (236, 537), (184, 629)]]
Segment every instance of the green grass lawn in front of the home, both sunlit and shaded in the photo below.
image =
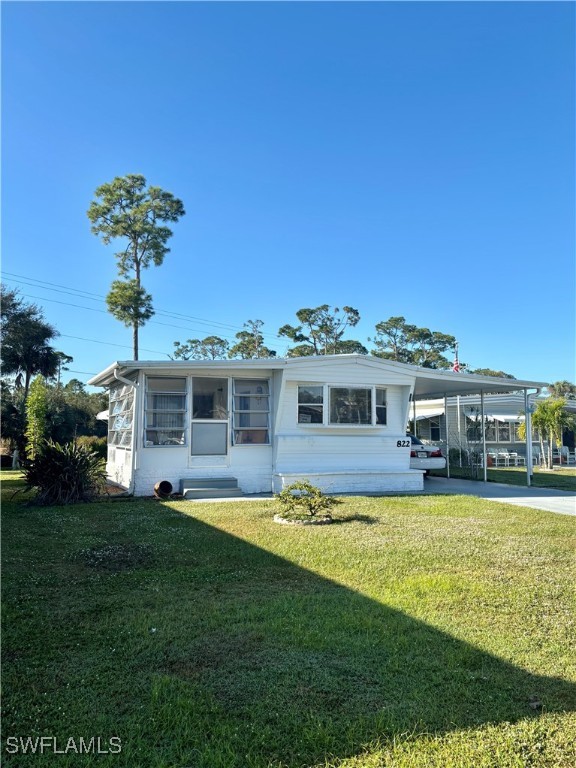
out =
[[(5, 766), (576, 765), (574, 518), (352, 497), (304, 528), (271, 500), (39, 509), (2, 477)], [(28, 736), (121, 751), (9, 753)]]

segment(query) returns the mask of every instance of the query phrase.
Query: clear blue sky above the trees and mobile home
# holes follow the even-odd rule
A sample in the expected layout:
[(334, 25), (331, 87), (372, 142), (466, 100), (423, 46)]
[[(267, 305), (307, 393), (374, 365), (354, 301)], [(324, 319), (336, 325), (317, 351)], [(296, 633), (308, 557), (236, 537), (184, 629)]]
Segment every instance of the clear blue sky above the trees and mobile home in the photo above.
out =
[[(575, 5), (2, 3), (3, 281), (87, 381), (131, 357), (106, 313), (100, 184), (184, 202), (143, 276), (141, 359), (351, 305), (460, 359), (576, 379)], [(75, 306), (70, 306), (75, 305)], [(176, 317), (178, 315), (178, 317)], [(368, 345), (370, 346), (370, 345)]]

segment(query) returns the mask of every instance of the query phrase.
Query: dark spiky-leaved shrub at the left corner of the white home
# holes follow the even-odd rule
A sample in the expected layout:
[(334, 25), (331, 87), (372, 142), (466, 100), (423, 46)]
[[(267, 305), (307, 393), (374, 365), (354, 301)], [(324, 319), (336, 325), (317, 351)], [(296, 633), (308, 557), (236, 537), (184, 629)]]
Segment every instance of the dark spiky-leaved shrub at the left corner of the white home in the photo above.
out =
[(26, 490), (35, 490), (36, 504), (74, 504), (90, 501), (105, 488), (105, 462), (84, 446), (52, 440), (24, 466)]

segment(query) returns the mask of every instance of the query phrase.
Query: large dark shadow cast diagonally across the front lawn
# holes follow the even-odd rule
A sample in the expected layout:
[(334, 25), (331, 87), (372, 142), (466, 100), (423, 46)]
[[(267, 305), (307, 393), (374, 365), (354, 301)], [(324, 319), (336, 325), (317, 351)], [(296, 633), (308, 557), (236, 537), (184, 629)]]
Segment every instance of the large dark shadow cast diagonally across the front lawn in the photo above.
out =
[[(109, 543), (83, 558), (67, 551), (50, 572), (45, 623), (30, 625), (25, 647), (11, 647), (10, 632), (4, 640), (15, 654), (7, 699), (29, 668), (46, 667), (34, 685), (51, 692), (10, 711), (6, 733), (28, 732), (34, 704), (41, 733), (120, 737), (122, 753), (99, 765), (296, 768), (375, 740), (576, 709), (574, 684), (530, 674), (176, 507), (106, 505), (90, 525)], [(101, 567), (112, 547), (120, 559)], [(60, 708), (73, 713), (67, 725)]]

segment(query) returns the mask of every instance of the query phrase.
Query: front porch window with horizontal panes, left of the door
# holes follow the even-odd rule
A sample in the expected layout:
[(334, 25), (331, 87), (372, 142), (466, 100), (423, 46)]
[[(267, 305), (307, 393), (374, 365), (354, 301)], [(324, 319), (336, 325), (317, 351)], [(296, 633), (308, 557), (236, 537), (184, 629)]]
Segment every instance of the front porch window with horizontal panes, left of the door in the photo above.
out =
[(186, 379), (148, 377), (144, 445), (184, 445), (185, 417)]

